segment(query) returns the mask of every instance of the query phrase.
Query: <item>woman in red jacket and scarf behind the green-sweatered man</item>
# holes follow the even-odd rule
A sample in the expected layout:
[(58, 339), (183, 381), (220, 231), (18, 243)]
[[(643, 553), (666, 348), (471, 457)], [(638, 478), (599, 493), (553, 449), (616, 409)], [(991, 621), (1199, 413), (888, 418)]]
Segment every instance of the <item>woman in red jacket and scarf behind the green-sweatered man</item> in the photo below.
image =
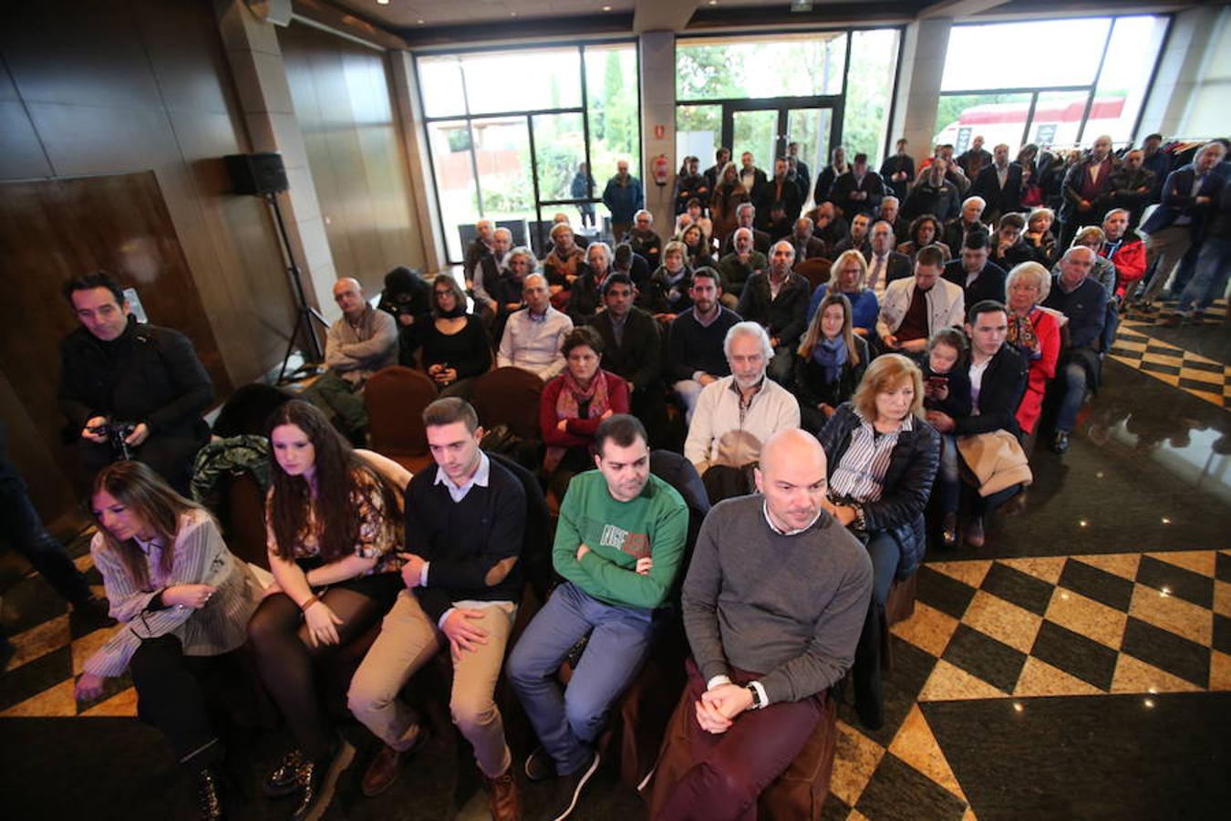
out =
[(591, 446), (598, 425), (612, 414), (628, 412), (628, 383), (598, 367), (603, 337), (588, 325), (569, 331), (560, 352), (567, 364), (543, 388), (539, 430), (547, 444), (543, 475), (563, 501), (569, 480), (595, 467)]

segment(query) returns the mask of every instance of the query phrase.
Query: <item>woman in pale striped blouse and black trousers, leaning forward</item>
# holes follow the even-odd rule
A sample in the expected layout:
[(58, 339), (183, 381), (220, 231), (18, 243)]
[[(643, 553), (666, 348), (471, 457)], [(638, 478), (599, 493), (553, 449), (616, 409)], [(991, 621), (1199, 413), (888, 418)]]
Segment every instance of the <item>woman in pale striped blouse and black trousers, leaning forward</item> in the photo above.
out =
[(229, 654), (244, 644), (261, 587), (209, 513), (139, 462), (103, 468), (91, 505), (98, 532), (90, 555), (122, 627), (86, 660), (76, 698), (98, 698), (103, 679), (130, 671), (138, 715), (199, 773), (202, 817), (219, 819), (223, 746), (208, 718), (206, 681), (238, 670), (227, 662), (236, 661)]

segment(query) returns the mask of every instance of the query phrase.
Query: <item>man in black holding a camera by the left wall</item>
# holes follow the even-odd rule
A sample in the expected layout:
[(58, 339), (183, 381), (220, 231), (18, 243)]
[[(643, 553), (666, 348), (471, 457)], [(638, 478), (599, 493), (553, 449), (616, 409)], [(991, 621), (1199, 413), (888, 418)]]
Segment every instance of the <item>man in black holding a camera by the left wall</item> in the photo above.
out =
[(214, 398), (192, 342), (138, 322), (102, 271), (64, 283), (64, 298), (81, 327), (60, 342), (60, 410), (86, 470), (137, 459), (187, 495), (192, 458), (209, 441), (201, 414)]

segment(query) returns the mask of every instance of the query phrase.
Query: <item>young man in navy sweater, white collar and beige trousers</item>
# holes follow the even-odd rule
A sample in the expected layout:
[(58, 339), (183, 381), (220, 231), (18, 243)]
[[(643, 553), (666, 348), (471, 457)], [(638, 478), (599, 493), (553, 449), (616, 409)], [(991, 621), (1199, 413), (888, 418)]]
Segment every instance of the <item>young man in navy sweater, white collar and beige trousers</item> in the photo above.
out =
[(474, 747), (491, 817), (512, 821), (521, 819), (521, 798), (494, 691), (522, 592), (526, 491), (479, 449), (483, 428), (465, 401), (436, 400), (423, 425), (436, 469), (406, 486), (406, 590), (351, 679), (351, 711), (385, 742), (362, 789), (388, 789), (404, 755), (426, 736), (398, 694), (443, 638), (453, 657), (449, 711)]

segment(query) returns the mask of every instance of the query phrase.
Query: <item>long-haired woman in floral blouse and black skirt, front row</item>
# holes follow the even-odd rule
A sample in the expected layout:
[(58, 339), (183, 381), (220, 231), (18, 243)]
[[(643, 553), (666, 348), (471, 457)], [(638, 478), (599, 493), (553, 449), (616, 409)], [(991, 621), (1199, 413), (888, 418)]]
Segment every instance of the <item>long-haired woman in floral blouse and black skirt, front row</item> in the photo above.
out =
[(331, 732), (316, 694), (318, 659), (362, 636), (403, 588), (393, 484), (369, 467), (313, 405), (273, 414), (266, 499), (275, 583), (247, 627), (257, 671), (297, 747), (265, 782), (271, 798), (297, 795), (292, 819), (327, 806), (332, 778), (353, 755)]

